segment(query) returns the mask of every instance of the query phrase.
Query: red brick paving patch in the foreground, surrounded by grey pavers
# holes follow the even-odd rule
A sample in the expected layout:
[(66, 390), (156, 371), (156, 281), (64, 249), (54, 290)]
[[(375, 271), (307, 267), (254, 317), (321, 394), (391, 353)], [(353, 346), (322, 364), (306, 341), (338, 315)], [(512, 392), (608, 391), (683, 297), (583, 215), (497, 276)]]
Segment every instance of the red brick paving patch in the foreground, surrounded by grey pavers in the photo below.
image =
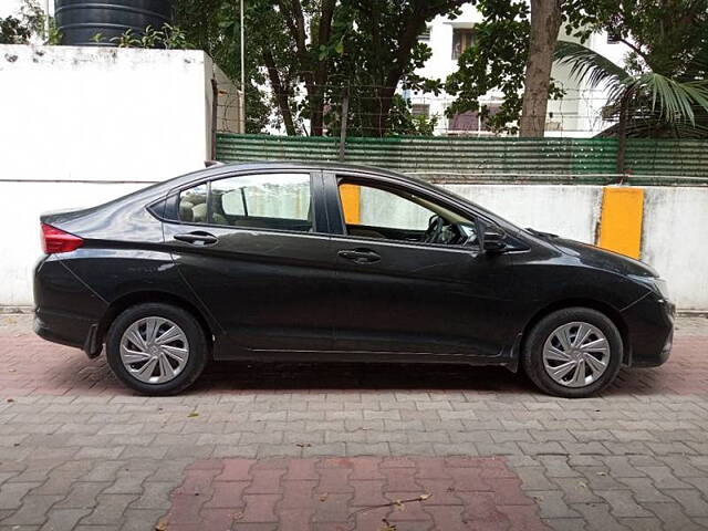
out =
[(168, 531), (548, 529), (496, 457), (197, 461), (162, 522)]

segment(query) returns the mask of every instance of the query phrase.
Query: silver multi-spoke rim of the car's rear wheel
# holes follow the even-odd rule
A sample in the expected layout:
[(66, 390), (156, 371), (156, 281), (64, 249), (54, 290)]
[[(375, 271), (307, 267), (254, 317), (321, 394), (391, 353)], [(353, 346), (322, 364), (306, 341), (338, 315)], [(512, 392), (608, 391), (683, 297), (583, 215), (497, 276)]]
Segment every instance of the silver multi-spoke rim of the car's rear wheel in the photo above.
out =
[(164, 384), (175, 379), (184, 371), (187, 360), (187, 335), (168, 319), (140, 319), (121, 337), (123, 366), (144, 384)]

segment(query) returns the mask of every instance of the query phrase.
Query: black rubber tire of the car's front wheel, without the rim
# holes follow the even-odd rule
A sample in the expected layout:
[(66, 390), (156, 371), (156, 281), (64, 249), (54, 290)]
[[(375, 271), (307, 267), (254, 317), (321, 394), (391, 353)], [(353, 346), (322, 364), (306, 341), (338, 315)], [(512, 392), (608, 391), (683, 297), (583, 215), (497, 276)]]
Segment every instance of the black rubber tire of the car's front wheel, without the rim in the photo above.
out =
[[(606, 368), (594, 382), (582, 387), (568, 387), (556, 383), (544, 368), (543, 348), (551, 334), (564, 324), (589, 323), (605, 335), (610, 344), (610, 360)], [(550, 313), (539, 321), (525, 337), (522, 365), (531, 381), (542, 392), (565, 398), (585, 398), (600, 393), (617, 376), (622, 366), (624, 345), (615, 324), (603, 313), (589, 308), (568, 308)]]

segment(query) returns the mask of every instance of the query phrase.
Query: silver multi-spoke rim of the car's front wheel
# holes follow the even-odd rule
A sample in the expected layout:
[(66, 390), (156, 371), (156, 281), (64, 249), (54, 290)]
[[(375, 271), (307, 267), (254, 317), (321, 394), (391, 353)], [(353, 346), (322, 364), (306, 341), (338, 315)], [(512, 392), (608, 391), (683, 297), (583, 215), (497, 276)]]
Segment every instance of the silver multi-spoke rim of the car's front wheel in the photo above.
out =
[(573, 322), (555, 329), (543, 345), (543, 367), (553, 382), (584, 387), (596, 382), (610, 364), (610, 343), (590, 323)]

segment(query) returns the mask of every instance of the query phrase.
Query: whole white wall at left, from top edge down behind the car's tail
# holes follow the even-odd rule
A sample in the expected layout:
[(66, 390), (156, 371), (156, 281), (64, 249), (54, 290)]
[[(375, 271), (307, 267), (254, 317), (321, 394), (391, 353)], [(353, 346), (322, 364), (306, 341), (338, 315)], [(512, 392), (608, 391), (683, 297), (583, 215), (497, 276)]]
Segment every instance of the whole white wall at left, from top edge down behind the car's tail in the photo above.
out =
[(32, 303), (41, 212), (204, 168), (212, 77), (230, 101), (200, 51), (0, 45), (0, 305)]

